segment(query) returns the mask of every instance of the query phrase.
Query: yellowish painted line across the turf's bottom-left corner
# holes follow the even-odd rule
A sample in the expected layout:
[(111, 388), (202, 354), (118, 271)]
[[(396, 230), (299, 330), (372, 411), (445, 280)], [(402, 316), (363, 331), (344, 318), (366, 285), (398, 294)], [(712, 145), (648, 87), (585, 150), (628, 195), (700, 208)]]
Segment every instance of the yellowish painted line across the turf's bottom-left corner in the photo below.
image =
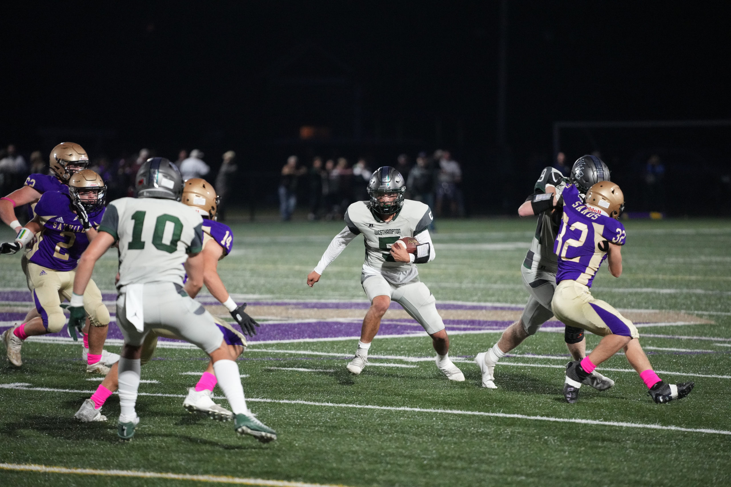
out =
[(137, 470), (98, 470), (66, 467), (46, 467), (35, 464), (0, 464), (0, 469), (16, 472), (39, 472), (75, 475), (102, 475), (104, 477), (137, 477), (166, 478), (172, 480), (193, 480), (208, 483), (235, 483), (242, 486), (276, 486), (276, 487), (343, 487), (332, 484), (289, 482), (287, 480), (265, 480), (262, 478), (238, 478), (222, 475), (189, 475), (183, 473), (138, 472)]

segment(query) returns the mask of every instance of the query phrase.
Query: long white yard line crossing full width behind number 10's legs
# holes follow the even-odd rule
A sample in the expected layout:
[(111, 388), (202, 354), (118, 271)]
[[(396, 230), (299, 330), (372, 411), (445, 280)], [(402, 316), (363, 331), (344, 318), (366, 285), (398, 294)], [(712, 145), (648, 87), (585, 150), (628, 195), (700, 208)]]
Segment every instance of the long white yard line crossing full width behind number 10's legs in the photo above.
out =
[[(547, 365), (544, 367), (561, 367), (556, 365)], [(612, 370), (612, 369), (609, 369)], [(634, 371), (632, 371), (634, 372)], [(659, 372), (659, 371), (658, 371)], [(731, 377), (730, 377), (731, 378)], [(44, 392), (73, 392), (73, 393), (85, 393), (89, 394), (91, 391), (75, 391), (72, 389), (53, 389), (47, 387), (28, 387), (31, 384), (28, 383), (10, 383), (0, 384), (0, 388), (11, 388), (20, 391), (44, 391)], [(154, 393), (140, 393), (140, 396), (157, 396), (157, 397), (185, 397), (183, 394), (154, 394)], [(213, 399), (222, 399), (220, 396), (214, 396)], [(679, 432), (692, 432), (692, 433), (710, 433), (710, 434), (728, 434), (731, 435), (731, 431), (723, 429), (708, 429), (708, 428), (683, 428), (681, 426), (663, 426), (660, 424), (644, 424), (644, 423), (626, 423), (621, 421), (598, 421), (594, 419), (579, 419), (579, 418), (554, 418), (552, 416), (529, 416), (523, 414), (509, 414), (509, 413), (485, 413), (483, 411), (466, 411), (466, 410), (444, 410), (444, 409), (427, 409), (422, 407), (395, 407), (395, 406), (375, 406), (371, 404), (339, 404), (335, 402), (312, 402), (312, 401), (300, 401), (290, 399), (263, 399), (263, 398), (251, 398), (247, 397), (249, 402), (269, 402), (275, 404), (304, 404), (307, 406), (323, 406), (323, 407), (352, 407), (354, 409), (370, 409), (370, 410), (384, 410), (384, 411), (412, 411), (414, 413), (442, 413), (442, 414), (458, 414), (458, 415), (473, 415), (473, 416), (490, 416), (493, 418), (515, 418), (515, 419), (527, 419), (532, 421), (554, 421), (557, 423), (578, 423), (578, 424), (592, 424), (598, 426), (616, 426), (621, 428), (645, 428), (645, 429), (665, 429)], [(268, 484), (262, 484), (268, 485)], [(285, 484), (286, 485), (286, 484)]]

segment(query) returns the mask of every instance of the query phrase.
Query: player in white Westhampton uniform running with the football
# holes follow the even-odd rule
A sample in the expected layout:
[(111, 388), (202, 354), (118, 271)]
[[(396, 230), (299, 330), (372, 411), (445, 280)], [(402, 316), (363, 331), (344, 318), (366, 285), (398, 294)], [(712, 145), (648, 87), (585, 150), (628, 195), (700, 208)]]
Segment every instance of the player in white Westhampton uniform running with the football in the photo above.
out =
[[(423, 203), (404, 199), (404, 177), (395, 168), (383, 166), (376, 169), (368, 183), (368, 202), (355, 202), (345, 212), (346, 227), (330, 242), (317, 266), (307, 276), (312, 287), (322, 272), (344, 250), (352, 239), (363, 234), (366, 244), (366, 261), (360, 283), (366, 291), (371, 307), (363, 318), (355, 358), (347, 369), (360, 374), (368, 364), (368, 349), (378, 333), (381, 318), (391, 301), (398, 302), (409, 315), (418, 321), (433, 340), (436, 350), (436, 367), (450, 380), (463, 381), (464, 375), (448, 356), (450, 340), (444, 329), (442, 317), (436, 312), (436, 300), (429, 289), (419, 280), (415, 264), (433, 261), (435, 253), (428, 226), (432, 221), (431, 210)], [(418, 241), (416, 253), (409, 253), (402, 237), (414, 237)], [(397, 243), (398, 242), (398, 243)]]

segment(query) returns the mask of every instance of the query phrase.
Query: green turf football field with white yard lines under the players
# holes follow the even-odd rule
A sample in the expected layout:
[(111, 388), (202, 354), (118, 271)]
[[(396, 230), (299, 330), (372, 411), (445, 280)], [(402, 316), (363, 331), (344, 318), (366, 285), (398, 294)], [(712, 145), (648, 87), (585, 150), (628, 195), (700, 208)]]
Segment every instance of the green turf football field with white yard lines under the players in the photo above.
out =
[[(23, 345), (22, 368), (0, 365), (0, 385), (30, 384), (30, 390), (0, 388), (0, 463), (345, 486), (731, 485), (731, 221), (625, 225), (624, 275), (615, 279), (602, 268), (594, 295), (622, 310), (674, 310), (713, 321), (640, 329), (661, 335), (641, 338), (656, 370), (694, 374), (659, 373), (673, 382), (695, 381), (693, 393), (681, 401), (654, 404), (640, 378), (627, 372), (624, 356), (616, 356), (600, 367), (621, 369), (604, 372), (616, 386), (605, 392), (582, 388), (580, 402), (567, 404), (561, 396), (567, 361), (561, 356), (567, 350), (559, 333), (539, 333), (513, 350), (522, 356), (504, 358), (496, 367), (496, 390), (480, 387), (480, 371), (471, 362), (496, 342), (496, 333), (452, 336), (450, 355), (461, 357), (464, 383), (449, 383), (433, 361), (406, 359), (432, 356), (425, 337), (375, 340), (371, 355), (393, 358), (371, 362), (401, 367), (367, 367), (357, 377), (344, 368), (355, 340), (255, 345), (238, 364), (248, 375), (247, 398), (257, 399), (249, 406), (279, 434), (276, 442), (262, 445), (236, 437), (232, 423), (183, 410), (183, 395), (197, 377), (181, 373), (202, 372), (205, 360), (197, 350), (167, 348), (158, 349), (164, 360), (143, 367), (142, 378), (158, 383), (140, 386), (140, 393), (151, 394), (137, 402), (141, 426), (135, 440), (119, 444), (116, 396), (104, 408), (110, 421), (80, 424), (72, 415), (88, 394), (56, 391), (93, 391), (99, 383), (80, 372), (78, 346), (34, 342)], [(235, 251), (221, 262), (221, 277), (232, 293), (247, 299), (363, 300), (360, 237), (315, 288), (305, 285), (342, 226), (232, 224)], [(436, 261), (420, 266), (438, 302), (525, 302), (520, 264), (534, 231), (532, 219), (439, 221), (438, 229)], [(7, 227), (0, 237), (10, 238)], [(0, 287), (25, 286), (19, 260), (0, 258)], [(100, 288), (113, 288), (115, 266), (113, 253), (100, 262), (94, 275)], [(589, 334), (588, 348), (596, 342)], [(220, 402), (227, 406), (225, 399)], [(99, 484), (203, 485), (0, 470), (1, 486)]]

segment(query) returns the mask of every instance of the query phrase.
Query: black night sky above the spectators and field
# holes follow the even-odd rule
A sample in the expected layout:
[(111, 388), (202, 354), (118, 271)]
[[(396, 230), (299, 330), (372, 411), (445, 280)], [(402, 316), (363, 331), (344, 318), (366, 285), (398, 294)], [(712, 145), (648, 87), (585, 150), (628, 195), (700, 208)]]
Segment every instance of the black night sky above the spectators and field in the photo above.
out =
[[(495, 146), (496, 1), (1, 9), (0, 144), (21, 151), (50, 149), (41, 147), (44, 128), (113, 130), (101, 147), (110, 156), (142, 146), (167, 156), (192, 145), (246, 152), (294, 139), (289, 126), (279, 134), (267, 126), (271, 110), (289, 111), (268, 83), (274, 66), (306, 47), (337, 61), (306, 66), (305, 58), (292, 69), (344, 72), (363, 86), (363, 137), (451, 145), (473, 166)], [(554, 120), (731, 118), (729, 13), (727, 2), (510, 1), (512, 164), (550, 155)], [(317, 123), (317, 114), (291, 111), (292, 127)], [(352, 138), (347, 127), (333, 135)]]

